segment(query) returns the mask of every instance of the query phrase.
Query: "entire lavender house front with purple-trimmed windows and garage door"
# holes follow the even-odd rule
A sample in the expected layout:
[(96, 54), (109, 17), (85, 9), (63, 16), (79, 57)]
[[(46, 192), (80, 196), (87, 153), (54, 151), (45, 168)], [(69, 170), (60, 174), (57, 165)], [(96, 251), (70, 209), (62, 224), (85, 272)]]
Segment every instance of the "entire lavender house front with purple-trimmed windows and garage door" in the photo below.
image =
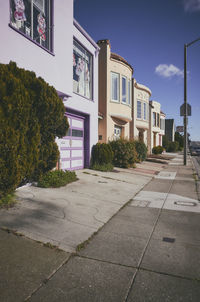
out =
[(98, 140), (98, 45), (73, 19), (73, 0), (1, 1), (0, 63), (32, 70), (63, 99), (70, 129), (61, 169), (89, 166)]

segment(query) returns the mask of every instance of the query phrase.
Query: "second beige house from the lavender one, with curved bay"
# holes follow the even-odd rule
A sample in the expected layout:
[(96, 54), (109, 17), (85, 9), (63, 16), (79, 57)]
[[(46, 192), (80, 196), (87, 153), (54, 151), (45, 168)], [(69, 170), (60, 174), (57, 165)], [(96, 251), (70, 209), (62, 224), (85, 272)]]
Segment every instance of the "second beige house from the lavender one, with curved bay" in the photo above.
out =
[(133, 137), (144, 142), (150, 152), (151, 144), (148, 142), (148, 132), (151, 90), (133, 79), (133, 95)]

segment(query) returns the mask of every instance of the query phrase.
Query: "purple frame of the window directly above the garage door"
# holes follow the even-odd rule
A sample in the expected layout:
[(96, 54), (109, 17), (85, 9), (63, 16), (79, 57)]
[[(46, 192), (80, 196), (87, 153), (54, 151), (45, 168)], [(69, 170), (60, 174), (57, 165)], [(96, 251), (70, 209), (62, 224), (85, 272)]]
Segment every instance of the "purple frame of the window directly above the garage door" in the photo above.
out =
[[(80, 48), (82, 48), (84, 50), (84, 56), (87, 56), (87, 53), (90, 56), (90, 97), (88, 97), (87, 95), (85, 95), (85, 87), (84, 87), (84, 94), (79, 93), (78, 91), (74, 90), (74, 71), (73, 71), (73, 93), (86, 98), (87, 100), (92, 101), (93, 100), (93, 89), (94, 89), (94, 81), (93, 81), (93, 75), (94, 75), (94, 58), (93, 58), (93, 54), (81, 43), (79, 42), (75, 37), (73, 37), (73, 56), (74, 56), (74, 42), (78, 44), (78, 46)], [(85, 82), (84, 82), (85, 83)]]

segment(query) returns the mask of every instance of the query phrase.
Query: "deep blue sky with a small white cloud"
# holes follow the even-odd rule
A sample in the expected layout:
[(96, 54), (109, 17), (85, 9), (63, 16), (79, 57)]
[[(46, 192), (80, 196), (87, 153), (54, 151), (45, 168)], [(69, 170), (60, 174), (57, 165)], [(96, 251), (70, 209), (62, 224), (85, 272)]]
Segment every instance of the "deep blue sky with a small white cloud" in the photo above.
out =
[[(200, 38), (200, 0), (74, 0), (74, 17), (94, 41), (109, 39), (166, 118), (183, 125), (184, 44)], [(200, 41), (187, 47), (187, 62), (188, 132), (200, 141)]]

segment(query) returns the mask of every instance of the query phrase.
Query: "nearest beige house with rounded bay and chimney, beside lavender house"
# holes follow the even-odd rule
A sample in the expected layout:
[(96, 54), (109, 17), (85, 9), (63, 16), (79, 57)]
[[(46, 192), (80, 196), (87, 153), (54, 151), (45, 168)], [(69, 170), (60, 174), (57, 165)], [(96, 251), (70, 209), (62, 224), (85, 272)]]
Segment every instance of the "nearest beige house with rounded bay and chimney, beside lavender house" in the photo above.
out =
[(109, 40), (97, 42), (99, 52), (99, 142), (130, 139), (132, 66), (111, 52)]

